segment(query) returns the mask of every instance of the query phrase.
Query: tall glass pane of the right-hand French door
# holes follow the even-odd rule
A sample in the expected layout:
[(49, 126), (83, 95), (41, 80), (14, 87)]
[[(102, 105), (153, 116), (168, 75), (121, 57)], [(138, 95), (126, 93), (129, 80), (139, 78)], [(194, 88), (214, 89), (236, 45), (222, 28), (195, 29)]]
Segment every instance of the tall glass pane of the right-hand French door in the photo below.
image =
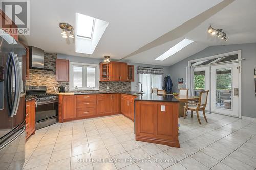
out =
[(216, 107), (231, 109), (231, 68), (216, 69)]

